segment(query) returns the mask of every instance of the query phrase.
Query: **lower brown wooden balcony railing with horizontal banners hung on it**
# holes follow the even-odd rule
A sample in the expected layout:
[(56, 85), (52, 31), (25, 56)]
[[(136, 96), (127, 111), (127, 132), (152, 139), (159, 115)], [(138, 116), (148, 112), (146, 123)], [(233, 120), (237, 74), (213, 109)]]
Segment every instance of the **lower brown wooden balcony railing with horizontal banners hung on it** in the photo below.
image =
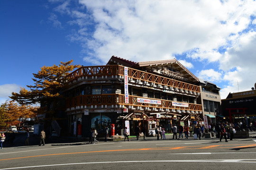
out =
[[(152, 103), (143, 103), (137, 102), (137, 98), (144, 98), (144, 99), (152, 99), (152, 100), (159, 100), (161, 104), (152, 104)], [(124, 94), (101, 94), (101, 95), (79, 95), (73, 97), (72, 99), (68, 100), (66, 103), (67, 108), (76, 108), (77, 106), (86, 106), (87, 108), (91, 108), (91, 106), (97, 106), (97, 108), (101, 108), (101, 105), (105, 107), (107, 106), (116, 106), (123, 105), (129, 108), (132, 106), (133, 108), (141, 107), (141, 109), (174, 109), (174, 110), (189, 110), (189, 111), (202, 111), (201, 104), (194, 104), (188, 103), (189, 107), (181, 107), (181, 106), (173, 106), (172, 102), (168, 100), (161, 100), (161, 99), (153, 99), (153, 98), (145, 98), (140, 96), (129, 96), (129, 103), (125, 103), (125, 96)]]

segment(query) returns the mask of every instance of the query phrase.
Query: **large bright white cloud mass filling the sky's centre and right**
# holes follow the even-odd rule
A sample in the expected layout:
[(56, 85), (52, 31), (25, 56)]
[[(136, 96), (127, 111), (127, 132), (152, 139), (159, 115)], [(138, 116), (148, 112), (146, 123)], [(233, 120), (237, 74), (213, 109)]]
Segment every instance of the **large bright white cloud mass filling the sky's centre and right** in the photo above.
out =
[(68, 37), (81, 43), (84, 61), (102, 65), (112, 55), (148, 61), (187, 54), (181, 63), (218, 83), (225, 95), (237, 81), (239, 89), (254, 85), (256, 32), (248, 27), (256, 24), (254, 0), (79, 0), (86, 11), (69, 2), (54, 10), (78, 26)]

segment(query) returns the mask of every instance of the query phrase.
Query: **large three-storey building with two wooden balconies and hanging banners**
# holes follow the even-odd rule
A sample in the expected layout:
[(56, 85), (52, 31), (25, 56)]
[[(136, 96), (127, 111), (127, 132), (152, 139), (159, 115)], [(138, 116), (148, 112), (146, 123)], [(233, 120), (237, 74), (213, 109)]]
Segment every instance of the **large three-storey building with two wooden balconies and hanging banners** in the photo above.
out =
[(68, 134), (89, 136), (114, 126), (122, 135), (128, 126), (156, 125), (170, 130), (172, 124), (202, 120), (200, 81), (176, 59), (133, 62), (112, 56), (105, 66), (81, 67), (69, 75), (64, 89)]

